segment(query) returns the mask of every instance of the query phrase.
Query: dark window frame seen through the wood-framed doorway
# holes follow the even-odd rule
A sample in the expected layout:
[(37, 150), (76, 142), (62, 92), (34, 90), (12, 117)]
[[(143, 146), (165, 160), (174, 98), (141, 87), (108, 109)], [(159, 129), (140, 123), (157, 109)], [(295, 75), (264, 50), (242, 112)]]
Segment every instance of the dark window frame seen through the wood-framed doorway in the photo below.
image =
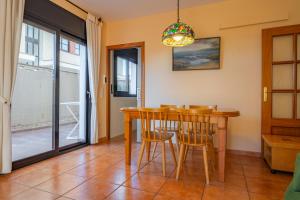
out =
[[(127, 91), (118, 91), (118, 70), (117, 70), (117, 59), (118, 57), (122, 58), (122, 59), (125, 59), (126, 60), (126, 82), (127, 82), (127, 85), (128, 85), (128, 88), (127, 88)], [(137, 78), (136, 78), (136, 92), (135, 94), (130, 94), (130, 80), (129, 80), (129, 62), (130, 60), (129, 59), (126, 59), (122, 56), (118, 56), (118, 55), (113, 55), (113, 61), (114, 61), (114, 64), (113, 64), (113, 96), (114, 97), (137, 97)], [(137, 77), (137, 64), (136, 64), (136, 77)]]

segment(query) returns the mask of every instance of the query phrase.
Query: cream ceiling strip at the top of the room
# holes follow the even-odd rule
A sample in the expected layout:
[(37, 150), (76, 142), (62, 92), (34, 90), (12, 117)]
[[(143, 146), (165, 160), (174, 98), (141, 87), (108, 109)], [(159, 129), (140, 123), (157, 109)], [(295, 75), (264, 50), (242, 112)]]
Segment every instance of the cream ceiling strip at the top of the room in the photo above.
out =
[[(180, 7), (188, 8), (223, 0), (181, 0)], [(122, 20), (176, 10), (176, 0), (71, 0), (79, 7), (106, 21)]]

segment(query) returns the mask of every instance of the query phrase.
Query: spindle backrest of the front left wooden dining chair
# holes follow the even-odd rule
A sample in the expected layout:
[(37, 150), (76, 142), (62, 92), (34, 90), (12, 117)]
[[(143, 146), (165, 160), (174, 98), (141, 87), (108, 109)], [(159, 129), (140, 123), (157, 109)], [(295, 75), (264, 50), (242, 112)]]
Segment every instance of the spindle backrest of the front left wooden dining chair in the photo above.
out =
[[(168, 112), (169, 108), (141, 108), (139, 110), (144, 139), (158, 140), (167, 133)], [(156, 134), (153, 134), (154, 131)]]

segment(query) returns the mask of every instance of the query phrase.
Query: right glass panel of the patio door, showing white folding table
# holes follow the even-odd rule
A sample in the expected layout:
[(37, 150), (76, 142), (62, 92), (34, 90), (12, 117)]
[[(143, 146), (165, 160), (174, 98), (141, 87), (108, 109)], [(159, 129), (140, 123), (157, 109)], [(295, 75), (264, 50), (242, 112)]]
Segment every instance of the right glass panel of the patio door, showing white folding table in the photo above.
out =
[(59, 147), (86, 141), (86, 46), (60, 38)]

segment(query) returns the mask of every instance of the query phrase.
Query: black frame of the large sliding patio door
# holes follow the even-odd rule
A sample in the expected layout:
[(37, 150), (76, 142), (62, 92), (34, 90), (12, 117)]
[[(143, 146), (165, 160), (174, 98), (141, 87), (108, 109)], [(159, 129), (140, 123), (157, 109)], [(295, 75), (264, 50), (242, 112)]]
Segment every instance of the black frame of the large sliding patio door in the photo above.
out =
[[(59, 94), (59, 77), (60, 77), (60, 73), (59, 73), (59, 69), (60, 69), (60, 65), (59, 65), (59, 61), (60, 61), (60, 37), (63, 36), (67, 36), (68, 38), (74, 38), (76, 40), (76, 42), (83, 43), (85, 46), (87, 46), (87, 41), (86, 39), (80, 38), (79, 36), (70, 34), (68, 32), (65, 32), (63, 30), (61, 30), (61, 28), (49, 24), (45, 21), (43, 21), (42, 19), (35, 17), (35, 16), (31, 16), (29, 14), (27, 14), (26, 12), (24, 13), (24, 19), (23, 22), (29, 25), (34, 25), (35, 27), (39, 28), (39, 29), (43, 29), (45, 31), (51, 32), (51, 33), (55, 33), (55, 41), (54, 41), (54, 51), (56, 52), (56, 54), (54, 55), (55, 59), (54, 59), (54, 74), (53, 74), (53, 102), (55, 102), (54, 106), (53, 106), (53, 113), (52, 113), (52, 119), (53, 119), (53, 123), (52, 123), (52, 146), (53, 146), (53, 150), (51, 151), (47, 151), (41, 154), (36, 154), (33, 155), (31, 157), (27, 157), (21, 160), (16, 160), (12, 162), (12, 168), (18, 169), (20, 167), (24, 167), (30, 164), (33, 164), (35, 162), (38, 161), (42, 161), (48, 158), (52, 158), (52, 157), (56, 157), (58, 155), (64, 154), (65, 152), (69, 152), (71, 150), (75, 150), (77, 148), (81, 148), (81, 147), (85, 147), (87, 145), (90, 144), (90, 121), (91, 121), (91, 97), (89, 95), (90, 93), (90, 85), (89, 85), (89, 69), (88, 69), (88, 55), (87, 55), (87, 51), (86, 51), (86, 67), (87, 67), (87, 73), (86, 73), (86, 132), (85, 132), (85, 137), (86, 137), (86, 141), (85, 142), (78, 142), (78, 143), (74, 143), (74, 144), (70, 144), (67, 146), (63, 146), (63, 147), (59, 147), (59, 98), (60, 98), (60, 94)], [(26, 33), (27, 34), (27, 33)], [(25, 47), (26, 48), (26, 47)]]

